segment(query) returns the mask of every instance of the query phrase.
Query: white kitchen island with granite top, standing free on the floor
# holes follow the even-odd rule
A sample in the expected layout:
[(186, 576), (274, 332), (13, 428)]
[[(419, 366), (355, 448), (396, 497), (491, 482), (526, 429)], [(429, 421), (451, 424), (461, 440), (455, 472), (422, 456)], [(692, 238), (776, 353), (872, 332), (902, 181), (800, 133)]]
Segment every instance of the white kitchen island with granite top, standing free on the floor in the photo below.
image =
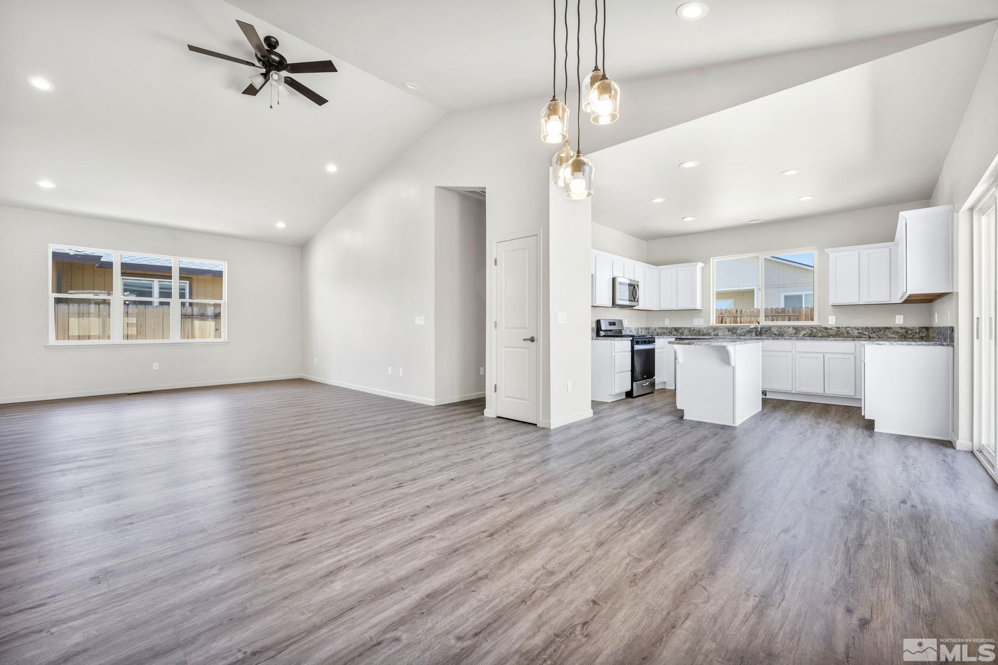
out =
[(762, 410), (762, 340), (677, 339), (676, 407), (686, 420), (738, 426)]

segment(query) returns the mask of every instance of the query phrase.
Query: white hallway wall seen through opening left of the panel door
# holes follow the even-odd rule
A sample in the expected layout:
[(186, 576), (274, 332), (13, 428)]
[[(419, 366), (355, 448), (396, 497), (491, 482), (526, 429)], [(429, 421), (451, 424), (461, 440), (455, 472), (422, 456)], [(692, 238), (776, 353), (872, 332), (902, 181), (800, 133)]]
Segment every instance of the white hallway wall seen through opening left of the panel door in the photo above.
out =
[(485, 395), (485, 199), (435, 193), (434, 396), (436, 404)]

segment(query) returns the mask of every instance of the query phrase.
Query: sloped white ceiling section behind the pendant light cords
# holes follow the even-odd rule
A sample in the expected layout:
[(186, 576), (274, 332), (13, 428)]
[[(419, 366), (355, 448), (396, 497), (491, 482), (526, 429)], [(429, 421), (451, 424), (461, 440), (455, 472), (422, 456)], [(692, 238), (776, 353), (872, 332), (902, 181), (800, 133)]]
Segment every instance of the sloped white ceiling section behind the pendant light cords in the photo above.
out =
[[(410, 94), (441, 109), (543, 97), (551, 90), (550, 2), (230, 1), (391, 85), (419, 84), (420, 90)], [(683, 1), (607, 3), (607, 68), (612, 77), (636, 79), (998, 18), (995, 0), (706, 0), (707, 16), (687, 21), (676, 16)], [(557, 4), (561, 15), (564, 1)], [(593, 67), (594, 8), (591, 0), (582, 5), (585, 76)], [(569, 6), (574, 17), (575, 3)], [(574, 40), (574, 18), (569, 26)], [(563, 43), (559, 27), (559, 53)], [(574, 46), (570, 52), (572, 69)], [(574, 72), (570, 77), (575, 80)]]

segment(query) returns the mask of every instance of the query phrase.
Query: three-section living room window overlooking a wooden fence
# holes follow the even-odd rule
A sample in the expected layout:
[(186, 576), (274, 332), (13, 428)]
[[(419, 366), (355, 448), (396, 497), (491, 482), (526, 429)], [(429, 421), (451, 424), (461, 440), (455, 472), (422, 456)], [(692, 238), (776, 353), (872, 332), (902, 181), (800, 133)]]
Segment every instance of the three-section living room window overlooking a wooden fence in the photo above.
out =
[(225, 261), (49, 246), (49, 342), (226, 339)]

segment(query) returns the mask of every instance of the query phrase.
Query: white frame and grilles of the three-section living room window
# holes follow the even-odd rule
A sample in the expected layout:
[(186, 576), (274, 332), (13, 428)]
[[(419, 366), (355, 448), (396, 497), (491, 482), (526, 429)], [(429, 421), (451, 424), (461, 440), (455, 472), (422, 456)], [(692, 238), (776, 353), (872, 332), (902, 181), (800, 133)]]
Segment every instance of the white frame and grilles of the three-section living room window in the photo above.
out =
[[(113, 278), (112, 278), (112, 294), (108, 295), (93, 295), (93, 294), (73, 294), (73, 293), (55, 293), (55, 284), (53, 283), (53, 270), (52, 270), (52, 250), (56, 247), (62, 247), (66, 249), (77, 249), (88, 252), (110, 252), (114, 257), (113, 266)], [(171, 260), (173, 264), (173, 284), (171, 298), (146, 298), (146, 297), (135, 297), (135, 296), (124, 296), (122, 295), (122, 254), (133, 254), (139, 256), (151, 256), (155, 258), (167, 258)], [(47, 346), (141, 346), (145, 344), (220, 344), (229, 342), (229, 316), (227, 311), (227, 304), (229, 301), (229, 263), (227, 261), (222, 261), (219, 259), (206, 259), (206, 258), (194, 258), (188, 256), (169, 256), (166, 254), (157, 254), (155, 252), (148, 251), (131, 251), (131, 250), (118, 250), (118, 249), (104, 249), (97, 247), (83, 247), (81, 245), (66, 244), (66, 243), (50, 243), (48, 245), (48, 251), (45, 257), (46, 269), (49, 273), (48, 279), (48, 303), (49, 303), (49, 340)], [(178, 285), (181, 281), (180, 279), (180, 262), (181, 261), (199, 261), (199, 262), (211, 262), (219, 263), (222, 265), (222, 300), (207, 300), (202, 298), (181, 298), (180, 288)], [(137, 277), (137, 279), (140, 279)], [(143, 277), (142, 279), (146, 279)], [(158, 279), (156, 277), (149, 277), (148, 279)], [(164, 280), (165, 281), (165, 280)], [(191, 286), (188, 286), (188, 293), (191, 293)], [(159, 293), (159, 287), (157, 286), (157, 293)], [(67, 299), (73, 298), (77, 300), (107, 300), (111, 306), (111, 339), (89, 339), (89, 340), (57, 340), (56, 339), (56, 314), (55, 314), (55, 301), (56, 298)], [(124, 303), (125, 300), (129, 301), (169, 301), (170, 302), (170, 339), (124, 339)], [(182, 339), (181, 334), (181, 308), (182, 302), (197, 302), (197, 303), (212, 303), (221, 305), (222, 309), (222, 337), (220, 339)]]

